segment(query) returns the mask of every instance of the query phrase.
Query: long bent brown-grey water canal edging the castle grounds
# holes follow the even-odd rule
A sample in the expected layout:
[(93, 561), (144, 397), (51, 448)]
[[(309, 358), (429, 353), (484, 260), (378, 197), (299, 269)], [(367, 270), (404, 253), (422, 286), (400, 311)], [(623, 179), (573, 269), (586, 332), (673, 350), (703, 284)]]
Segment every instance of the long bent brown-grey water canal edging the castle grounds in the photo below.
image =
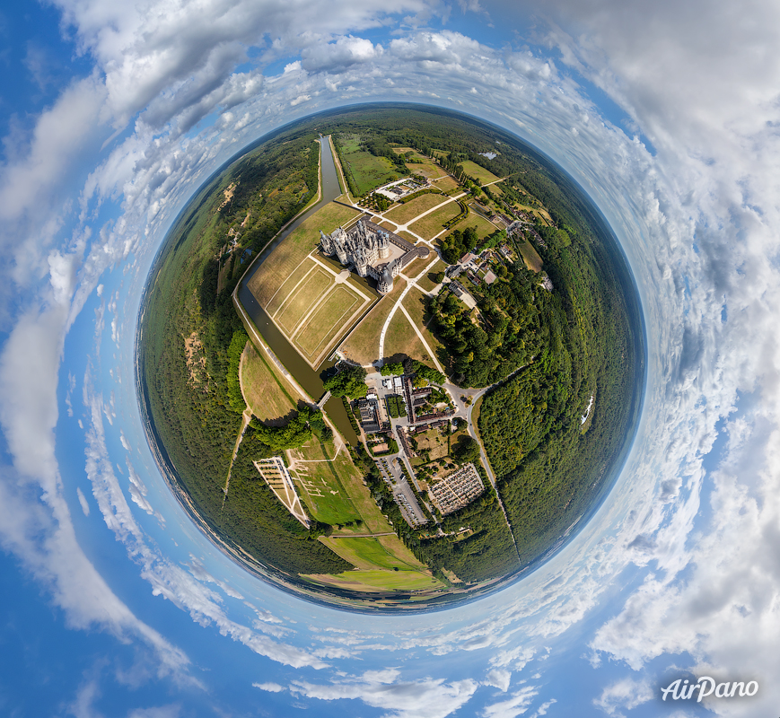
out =
[[(287, 371), (294, 376), (295, 381), (302, 386), (314, 401), (317, 401), (325, 393), (325, 388), (320, 379), (320, 372), (333, 366), (334, 363), (323, 363), (320, 365), (319, 371), (313, 370), (311, 366), (303, 360), (302, 356), (298, 354), (294, 346), (287, 341), (287, 338), (282, 334), (279, 328), (276, 327), (276, 324), (259, 305), (259, 302), (255, 299), (254, 294), (250, 292), (247, 285), (263, 261), (265, 261), (268, 255), (275, 250), (281, 242), (285, 241), (290, 232), (294, 232), (307, 217), (319, 210), (320, 207), (329, 204), (342, 194), (342, 188), (338, 181), (336, 163), (333, 160), (333, 152), (330, 149), (329, 137), (320, 137), (319, 142), (321, 171), (320, 201), (316, 205), (311, 206), (311, 208), (298, 217), (294, 223), (286, 227), (285, 230), (276, 237), (276, 240), (271, 242), (265, 250), (260, 252), (258, 257), (252, 262), (247, 273), (241, 278), (241, 283), (237, 290), (237, 296), (239, 302), (241, 302), (241, 306), (243, 306), (244, 311), (249, 314), (250, 319), (254, 322), (255, 327), (258, 328), (258, 331), (262, 335), (267, 346), (271, 348), (279, 361), (285, 365)], [(353, 446), (357, 444), (357, 434), (349, 423), (349, 417), (346, 416), (346, 409), (344, 408), (341, 398), (330, 398), (325, 405), (325, 410), (328, 412), (331, 421), (337, 426), (338, 431), (341, 432), (346, 441)]]

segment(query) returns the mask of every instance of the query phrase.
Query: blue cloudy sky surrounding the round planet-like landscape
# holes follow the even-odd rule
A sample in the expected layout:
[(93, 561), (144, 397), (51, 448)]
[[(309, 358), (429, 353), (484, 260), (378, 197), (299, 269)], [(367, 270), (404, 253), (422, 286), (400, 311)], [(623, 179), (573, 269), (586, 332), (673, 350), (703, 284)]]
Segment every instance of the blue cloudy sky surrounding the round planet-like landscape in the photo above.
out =
[[(7, 5), (0, 714), (776, 713), (780, 5)], [(140, 293), (188, 197), (271, 129), (363, 101), (458, 109), (558, 162), (625, 250), (648, 336), (592, 521), (521, 582), (414, 617), (233, 565), (165, 488), (134, 383)], [(758, 690), (662, 700), (705, 676)]]

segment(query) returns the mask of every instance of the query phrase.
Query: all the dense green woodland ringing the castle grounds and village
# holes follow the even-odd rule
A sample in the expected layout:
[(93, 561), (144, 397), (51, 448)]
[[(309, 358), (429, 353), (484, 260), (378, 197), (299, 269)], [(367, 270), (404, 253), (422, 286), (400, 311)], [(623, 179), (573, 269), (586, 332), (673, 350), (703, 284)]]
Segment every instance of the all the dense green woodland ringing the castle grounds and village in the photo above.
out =
[[(174, 226), (145, 297), (141, 365), (154, 431), (180, 485), (225, 540), (287, 574), (350, 567), (315, 540), (323, 527), (304, 529), (251, 464), (312, 431), (323, 433), (321, 415), (300, 411), (276, 429), (252, 422), (223, 494), (241, 425), (235, 367), (245, 339), (230, 300), (240, 257), (261, 250), (316, 193), (314, 140), (318, 132), (337, 131), (360, 135), (367, 151), (393, 162), (393, 144), (429, 155), (435, 148), (453, 170), (464, 160), (477, 162), (509, 176), (506, 197), (538, 202), (556, 224), (536, 228), (541, 241), (530, 235), (554, 291), (517, 262), (478, 293), (477, 320), (450, 293), (429, 307), (453, 378), (462, 386), (497, 382), (482, 401), (478, 427), (518, 550), (492, 489), (443, 520), (445, 531), (469, 526), (468, 536), (421, 538), (401, 518), (372, 460), (355, 454), (382, 511), (437, 576), (447, 570), (476, 582), (512, 573), (555, 545), (608, 488), (607, 469), (635, 418), (641, 346), (633, 289), (599, 218), (543, 157), (521, 151), (495, 127), (431, 109), (334, 111), (283, 130), (204, 188)], [(487, 160), (479, 154), (487, 150), (499, 154)], [(453, 235), (453, 253), (472, 249), (468, 230)], [(329, 388), (355, 396), (355, 380), (347, 372), (332, 377)], [(593, 416), (583, 425), (592, 394)], [(474, 447), (460, 453), (471, 456)]]

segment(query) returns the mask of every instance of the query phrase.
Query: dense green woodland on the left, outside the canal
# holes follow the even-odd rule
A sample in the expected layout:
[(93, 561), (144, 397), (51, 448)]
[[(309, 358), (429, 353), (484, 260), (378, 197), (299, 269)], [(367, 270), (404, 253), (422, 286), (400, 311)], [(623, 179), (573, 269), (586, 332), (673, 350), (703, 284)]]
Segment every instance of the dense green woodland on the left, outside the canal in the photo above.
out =
[[(312, 431), (327, 439), (330, 430), (319, 412), (303, 406), (283, 427), (253, 421), (233, 462), (225, 497), (244, 408), (238, 362), (248, 339), (231, 293), (242, 271), (234, 259), (247, 249), (261, 250), (316, 194), (315, 137), (312, 131), (283, 133), (200, 192), (153, 269), (156, 281), (145, 297), (145, 341), (139, 347), (148, 414), (181, 488), (228, 543), (287, 574), (341, 572), (352, 566), (317, 542), (317, 527), (306, 530), (286, 511), (251, 461), (300, 445)], [(231, 186), (232, 199), (225, 202), (224, 189)], [(239, 232), (238, 246), (226, 256), (231, 230)], [(196, 348), (188, 365), (185, 342), (190, 337)]]

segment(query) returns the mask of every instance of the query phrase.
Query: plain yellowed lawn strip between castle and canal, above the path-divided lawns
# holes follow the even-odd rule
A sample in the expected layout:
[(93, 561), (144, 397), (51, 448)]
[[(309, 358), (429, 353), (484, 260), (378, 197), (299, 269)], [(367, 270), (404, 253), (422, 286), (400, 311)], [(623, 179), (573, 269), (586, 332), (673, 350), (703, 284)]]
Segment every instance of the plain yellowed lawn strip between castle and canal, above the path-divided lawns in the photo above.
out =
[(333, 232), (337, 226), (360, 214), (355, 209), (331, 202), (307, 217), (285, 237), (250, 279), (250, 292), (260, 302), (260, 306), (270, 310), (271, 300), (276, 292), (289, 276), (299, 270), (304, 259), (319, 243), (320, 229), (323, 232)]

